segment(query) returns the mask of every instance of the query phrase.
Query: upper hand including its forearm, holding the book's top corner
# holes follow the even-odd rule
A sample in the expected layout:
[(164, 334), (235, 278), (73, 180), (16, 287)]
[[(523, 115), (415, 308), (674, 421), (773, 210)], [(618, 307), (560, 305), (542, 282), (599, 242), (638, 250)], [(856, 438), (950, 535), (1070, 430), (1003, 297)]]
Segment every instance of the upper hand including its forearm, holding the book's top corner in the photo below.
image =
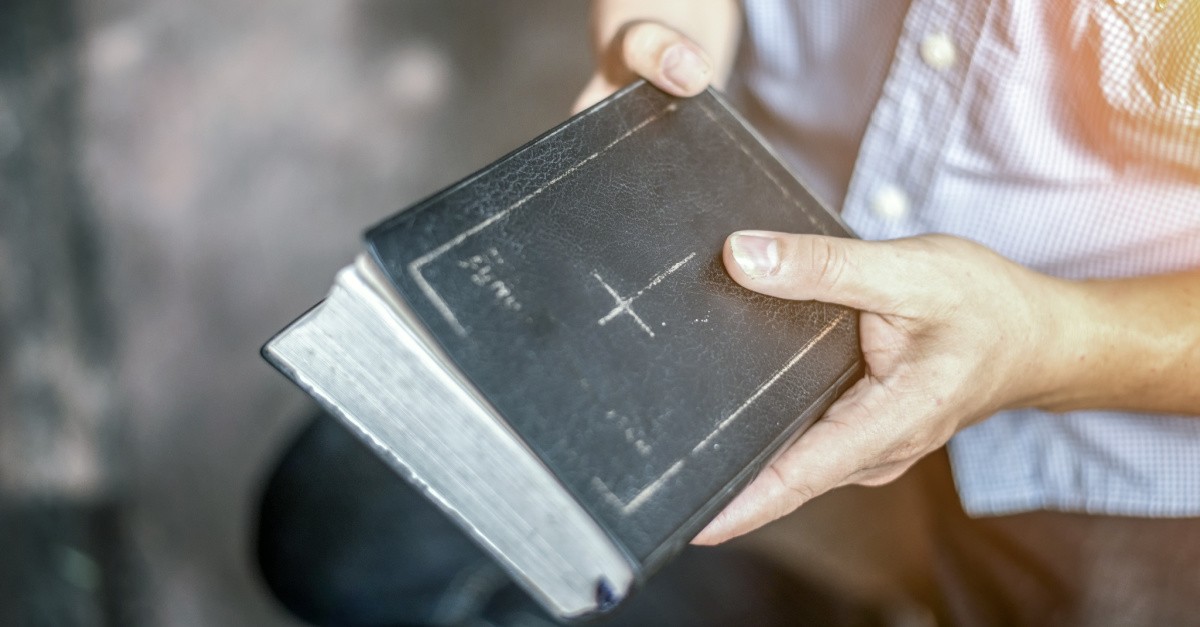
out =
[[(724, 80), (739, 25), (734, 5), (725, 0), (594, 2), (596, 71), (576, 98), (572, 113), (595, 104), (637, 77), (676, 96), (695, 96), (710, 83)], [(696, 34), (703, 44), (684, 35), (685, 30)], [(718, 55), (715, 61), (709, 52)]]

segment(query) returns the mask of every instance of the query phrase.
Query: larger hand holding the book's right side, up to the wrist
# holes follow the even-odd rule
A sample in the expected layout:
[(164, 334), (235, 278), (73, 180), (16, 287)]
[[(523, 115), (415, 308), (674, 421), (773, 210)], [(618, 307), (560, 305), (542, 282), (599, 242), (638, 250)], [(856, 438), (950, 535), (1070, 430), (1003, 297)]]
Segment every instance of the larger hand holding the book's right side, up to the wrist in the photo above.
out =
[(692, 542), (749, 532), (847, 484), (902, 474), (960, 429), (1028, 406), (1055, 380), (1074, 283), (967, 240), (731, 235), (725, 267), (764, 294), (856, 307), (865, 376)]

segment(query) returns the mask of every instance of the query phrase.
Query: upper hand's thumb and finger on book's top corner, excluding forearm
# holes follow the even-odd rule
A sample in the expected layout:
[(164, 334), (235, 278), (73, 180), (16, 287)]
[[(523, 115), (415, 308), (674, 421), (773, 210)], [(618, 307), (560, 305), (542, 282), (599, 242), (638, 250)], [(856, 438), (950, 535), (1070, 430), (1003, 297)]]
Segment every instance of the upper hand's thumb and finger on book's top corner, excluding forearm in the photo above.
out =
[(642, 77), (676, 96), (695, 96), (713, 80), (708, 54), (679, 31), (658, 22), (622, 26), (607, 47), (598, 50), (599, 67), (571, 107), (578, 113)]

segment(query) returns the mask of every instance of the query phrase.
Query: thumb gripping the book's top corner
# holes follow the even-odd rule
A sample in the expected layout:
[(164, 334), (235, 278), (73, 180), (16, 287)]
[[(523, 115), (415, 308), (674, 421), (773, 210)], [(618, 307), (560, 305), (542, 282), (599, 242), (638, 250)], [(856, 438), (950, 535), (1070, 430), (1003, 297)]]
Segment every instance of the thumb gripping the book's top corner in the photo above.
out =
[(708, 55), (679, 31), (656, 22), (637, 22), (620, 38), (625, 67), (676, 96), (695, 96), (713, 80)]

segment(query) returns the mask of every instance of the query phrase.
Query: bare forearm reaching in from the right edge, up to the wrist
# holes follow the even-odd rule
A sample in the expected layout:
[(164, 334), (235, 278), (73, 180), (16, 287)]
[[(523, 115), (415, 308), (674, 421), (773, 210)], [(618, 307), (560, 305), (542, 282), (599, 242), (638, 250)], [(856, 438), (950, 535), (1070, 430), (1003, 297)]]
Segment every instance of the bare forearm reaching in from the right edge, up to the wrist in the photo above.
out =
[(1067, 283), (1052, 411), (1200, 414), (1200, 273)]

